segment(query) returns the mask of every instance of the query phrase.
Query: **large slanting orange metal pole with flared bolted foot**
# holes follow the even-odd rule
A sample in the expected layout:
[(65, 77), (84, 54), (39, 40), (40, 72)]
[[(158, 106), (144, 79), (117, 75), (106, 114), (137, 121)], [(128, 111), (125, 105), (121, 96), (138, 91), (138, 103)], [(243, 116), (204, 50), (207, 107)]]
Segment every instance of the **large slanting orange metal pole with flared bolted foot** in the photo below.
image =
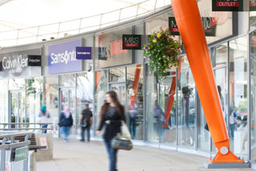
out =
[(212, 141), (218, 152), (212, 162), (244, 162), (229, 150), (229, 136), (220, 106), (212, 64), (196, 0), (171, 0), (178, 30), (195, 79)]

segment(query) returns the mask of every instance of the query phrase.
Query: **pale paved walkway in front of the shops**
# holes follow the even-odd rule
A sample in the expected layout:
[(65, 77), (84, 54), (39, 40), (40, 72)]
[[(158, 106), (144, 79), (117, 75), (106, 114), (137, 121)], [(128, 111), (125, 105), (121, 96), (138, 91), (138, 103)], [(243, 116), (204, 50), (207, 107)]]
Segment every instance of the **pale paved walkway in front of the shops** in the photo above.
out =
[[(52, 161), (36, 162), (37, 171), (108, 171), (103, 142), (79, 142), (54, 139)], [(132, 151), (120, 150), (119, 171), (253, 171), (253, 169), (204, 169), (208, 159), (183, 152), (136, 146)]]

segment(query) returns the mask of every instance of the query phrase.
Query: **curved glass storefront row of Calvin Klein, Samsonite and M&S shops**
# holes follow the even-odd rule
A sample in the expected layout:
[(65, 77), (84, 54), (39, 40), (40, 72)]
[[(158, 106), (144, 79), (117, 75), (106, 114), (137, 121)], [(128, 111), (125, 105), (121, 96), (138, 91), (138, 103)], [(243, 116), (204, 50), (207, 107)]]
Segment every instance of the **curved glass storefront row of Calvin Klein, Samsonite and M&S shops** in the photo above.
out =
[[(253, 11), (212, 12), (208, 5), (211, 1), (199, 1), (198, 4), (229, 132), (230, 149), (244, 160), (254, 162), (255, 14)], [(125, 106), (132, 139), (159, 148), (214, 156), (216, 148), (205, 128), (204, 110), (186, 53), (180, 54), (180, 72), (172, 68), (170, 75), (159, 82), (156, 74), (149, 72), (142, 50), (122, 48), (122, 35), (142, 35), (141, 43), (144, 44), (147, 35), (160, 27), (175, 27), (171, 17), (174, 17), (171, 8), (166, 8), (143, 19), (40, 44), (40, 73), (3, 77), (5, 72), (0, 71), (0, 122), (10, 122), (10, 109), (18, 106), (21, 106), (19, 115), (26, 118), (24, 122), (36, 122), (40, 106), (46, 104), (52, 116), (53, 133), (59, 135), (59, 115), (63, 106), (68, 105), (74, 119), (72, 134), (79, 136), (78, 118), (84, 104), (89, 102), (94, 113), (94, 135), (105, 94), (115, 90)], [(182, 42), (178, 33), (174, 39)], [(73, 52), (80, 46), (93, 47), (92, 60), (75, 60)], [(2, 59), (6, 52), (0, 53)], [(61, 54), (66, 58), (60, 60), (58, 56)], [(12, 100), (16, 98), (21, 100), (13, 107), (15, 102)], [(170, 98), (174, 99), (172, 108), (166, 113)], [(162, 123), (166, 115), (169, 115), (168, 122)]]

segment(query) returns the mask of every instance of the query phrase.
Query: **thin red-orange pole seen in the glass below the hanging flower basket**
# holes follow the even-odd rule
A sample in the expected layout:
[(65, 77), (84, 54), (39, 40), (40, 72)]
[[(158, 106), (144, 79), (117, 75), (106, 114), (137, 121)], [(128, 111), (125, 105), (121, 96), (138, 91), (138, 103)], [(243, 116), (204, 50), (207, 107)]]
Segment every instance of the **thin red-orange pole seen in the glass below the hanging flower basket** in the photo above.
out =
[[(179, 64), (178, 64), (178, 77), (180, 75), (182, 61), (183, 60), (180, 60)], [(173, 81), (172, 81), (172, 83), (170, 85), (170, 91), (169, 91), (168, 99), (167, 99), (167, 103), (166, 103), (166, 113), (165, 113), (165, 121), (166, 122), (164, 122), (162, 124), (162, 127), (168, 127), (167, 121), (170, 119), (170, 111), (171, 111), (171, 109), (174, 106), (174, 94), (175, 94), (175, 88), (176, 88), (176, 80), (178, 80), (178, 79), (176, 79), (176, 77), (173, 77)]]

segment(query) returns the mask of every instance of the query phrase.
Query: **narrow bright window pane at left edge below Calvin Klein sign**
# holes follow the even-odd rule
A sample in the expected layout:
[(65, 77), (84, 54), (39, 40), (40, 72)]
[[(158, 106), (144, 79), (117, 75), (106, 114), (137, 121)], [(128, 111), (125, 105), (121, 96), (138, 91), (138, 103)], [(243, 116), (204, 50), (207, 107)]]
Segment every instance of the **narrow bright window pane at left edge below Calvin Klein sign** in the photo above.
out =
[(0, 122), (8, 123), (8, 80), (0, 80)]

